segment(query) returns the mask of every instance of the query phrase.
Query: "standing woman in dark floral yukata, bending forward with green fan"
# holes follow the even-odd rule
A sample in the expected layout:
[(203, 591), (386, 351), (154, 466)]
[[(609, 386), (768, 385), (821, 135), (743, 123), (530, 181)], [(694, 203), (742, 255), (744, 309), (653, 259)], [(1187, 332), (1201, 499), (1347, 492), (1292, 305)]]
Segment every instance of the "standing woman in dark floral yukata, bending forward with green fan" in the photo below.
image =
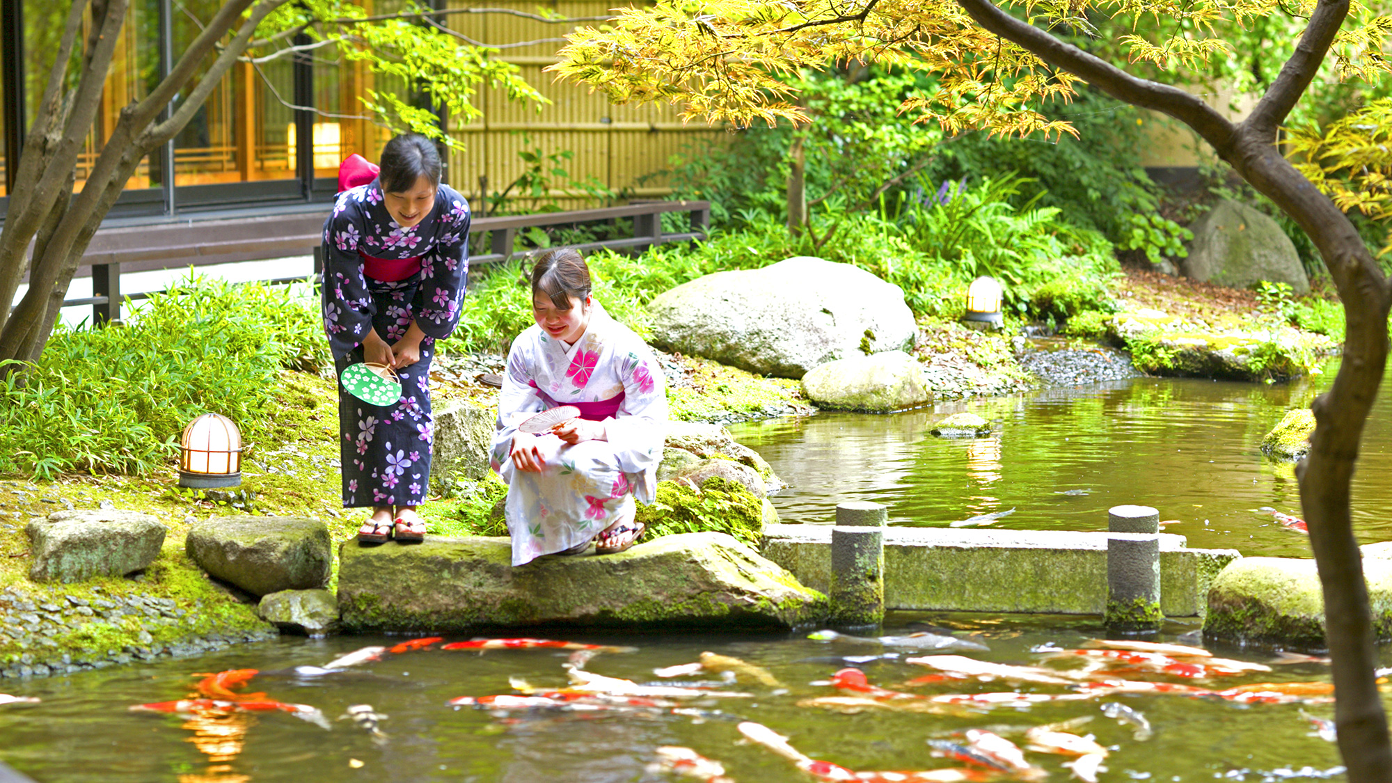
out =
[(363, 403), (338, 386), (345, 509), (372, 509), (358, 539), (422, 541), (416, 507), (430, 483), (430, 358), (459, 320), (469, 272), (469, 205), (440, 184), (440, 153), (420, 135), (354, 155), (338, 170), (324, 222), (324, 330), (342, 373), (355, 362), (395, 369), (401, 398)]

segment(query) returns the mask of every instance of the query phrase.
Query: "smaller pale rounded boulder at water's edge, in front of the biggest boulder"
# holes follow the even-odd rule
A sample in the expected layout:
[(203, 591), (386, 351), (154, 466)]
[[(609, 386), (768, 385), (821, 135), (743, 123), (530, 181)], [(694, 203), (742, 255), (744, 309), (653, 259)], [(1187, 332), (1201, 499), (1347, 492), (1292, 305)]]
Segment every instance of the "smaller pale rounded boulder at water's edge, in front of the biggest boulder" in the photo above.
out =
[(923, 380), (923, 365), (903, 351), (818, 365), (802, 376), (802, 387), (818, 405), (852, 411), (902, 411), (933, 397)]

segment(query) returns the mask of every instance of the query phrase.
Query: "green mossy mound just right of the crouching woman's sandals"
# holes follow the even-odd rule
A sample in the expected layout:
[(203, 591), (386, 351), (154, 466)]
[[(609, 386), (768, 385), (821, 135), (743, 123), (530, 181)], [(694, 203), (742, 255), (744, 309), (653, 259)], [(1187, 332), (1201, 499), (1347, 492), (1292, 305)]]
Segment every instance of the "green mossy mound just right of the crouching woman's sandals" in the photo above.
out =
[(757, 546), (763, 518), (763, 500), (720, 476), (702, 482), (700, 490), (672, 481), (658, 482), (656, 502), (638, 506), (638, 521), (647, 525), (653, 538), (715, 531)]

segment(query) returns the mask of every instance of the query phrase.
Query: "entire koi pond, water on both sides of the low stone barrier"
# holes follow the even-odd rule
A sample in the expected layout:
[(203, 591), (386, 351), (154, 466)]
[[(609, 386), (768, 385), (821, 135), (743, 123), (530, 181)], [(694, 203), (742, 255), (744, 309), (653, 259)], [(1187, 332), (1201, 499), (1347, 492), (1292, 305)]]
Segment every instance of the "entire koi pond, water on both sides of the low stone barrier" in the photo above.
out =
[[(1109, 506), (1141, 503), (1160, 509), (1161, 520), (1175, 520), (1165, 529), (1186, 535), (1190, 546), (1307, 556), (1304, 535), (1256, 511), (1271, 506), (1300, 514), (1290, 465), (1267, 460), (1258, 444), (1286, 408), (1307, 405), (1334, 369), (1295, 385), (1140, 378), (895, 415), (823, 414), (732, 429), (791, 482), (774, 496), (785, 521), (830, 522), (837, 502), (859, 499), (887, 503), (892, 524), (903, 525), (947, 525), (1013, 509), (992, 524), (1105, 529)], [(1392, 538), (1392, 392), (1386, 386), (1382, 392), (1354, 481), (1363, 541)], [(973, 440), (928, 435), (931, 422), (963, 410), (998, 419), (995, 433)], [(1158, 641), (1201, 644), (1197, 628), (1196, 621), (1171, 621)], [(1104, 783), (1342, 776), (1321, 723), (1332, 718), (1322, 692), (1328, 666), (1317, 659), (1221, 649), (1215, 655), (1232, 659), (1226, 667), (1205, 666), (1201, 658), (1107, 658), (1087, 646), (1102, 635), (1097, 619), (1076, 616), (891, 613), (881, 631), (951, 634), (988, 649), (816, 641), (807, 631), (599, 635), (530, 630), (528, 635), (635, 649), (586, 660), (564, 649), (479, 653), (441, 649), (437, 642), (327, 673), (315, 667), (365, 645), (391, 646), (404, 638), (285, 637), (196, 659), (6, 680), (0, 681), (4, 692), (40, 701), (0, 705), (0, 761), (40, 783), (948, 782), (997, 775), (991, 765), (1002, 762), (992, 754), (1002, 745), (980, 733), (988, 730), (1025, 748), (1027, 769), (1006, 773), (1016, 779), (1041, 773)], [(1075, 649), (1090, 652), (1065, 652)], [(703, 652), (738, 658), (766, 670), (768, 679), (750, 679), (748, 670), (736, 681), (724, 681), (714, 670), (667, 679), (654, 672), (695, 663)], [(941, 655), (970, 660), (948, 660), (937, 669), (909, 662)], [(1392, 649), (1384, 658), (1385, 665), (1392, 662)], [(718, 692), (654, 697), (651, 704), (643, 704), (643, 695), (580, 702), (547, 695), (567, 687), (571, 660), (582, 666), (582, 679), (704, 684)], [(967, 672), (981, 662), (1041, 667), (1045, 681), (1038, 680), (1038, 669), (1030, 669), (1034, 674), (999, 669), (984, 679)], [(1047, 681), (1050, 672), (1076, 672), (1083, 665), (1098, 669), (1072, 683)], [(838, 677), (845, 667), (862, 670), (863, 684), (855, 673)], [(128, 709), (206, 698), (206, 683), (199, 690), (205, 674), (235, 669), (256, 670), (238, 676), (249, 679), (232, 687), (237, 695), (263, 692), (256, 698), (306, 706), (296, 712), (235, 705)], [(1101, 679), (1111, 684), (1084, 683)], [(1247, 687), (1260, 683), (1279, 685)], [(458, 697), (529, 691), (540, 701), (509, 709), (448, 704)], [(748, 695), (721, 695), (729, 692)], [(1011, 692), (1025, 697), (983, 697)], [(370, 705), (369, 718), (383, 716), (377, 729), (384, 737), (370, 733), (370, 720), (348, 716), (349, 705)], [(1115, 719), (1121, 708), (1108, 705), (1144, 716), (1148, 736)], [(754, 724), (767, 731), (759, 734)], [(1059, 750), (1058, 741), (1038, 736), (1041, 726), (1084, 743), (1091, 737), (1107, 757), (1075, 762), (1050, 752)], [(1030, 729), (1036, 734), (1027, 736)], [(743, 741), (746, 734), (763, 744)], [(784, 750), (791, 754), (770, 750), (777, 736), (788, 738)], [(1029, 750), (1031, 740), (1043, 750)], [(654, 766), (657, 748), (664, 745), (718, 761), (724, 777), (713, 769)], [(973, 754), (984, 761), (963, 758)], [(838, 766), (813, 769), (809, 759)], [(842, 768), (866, 775), (846, 777), (838, 772)]]

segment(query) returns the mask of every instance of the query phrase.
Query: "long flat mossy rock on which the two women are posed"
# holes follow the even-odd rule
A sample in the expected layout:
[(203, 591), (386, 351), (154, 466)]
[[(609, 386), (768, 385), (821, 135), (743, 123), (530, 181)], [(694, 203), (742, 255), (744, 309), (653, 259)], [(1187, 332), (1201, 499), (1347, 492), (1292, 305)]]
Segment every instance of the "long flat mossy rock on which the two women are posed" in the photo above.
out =
[(338, 606), (352, 631), (480, 627), (789, 628), (827, 599), (734, 538), (682, 534), (618, 555), (541, 557), (514, 568), (507, 538), (427, 536), (338, 549)]

